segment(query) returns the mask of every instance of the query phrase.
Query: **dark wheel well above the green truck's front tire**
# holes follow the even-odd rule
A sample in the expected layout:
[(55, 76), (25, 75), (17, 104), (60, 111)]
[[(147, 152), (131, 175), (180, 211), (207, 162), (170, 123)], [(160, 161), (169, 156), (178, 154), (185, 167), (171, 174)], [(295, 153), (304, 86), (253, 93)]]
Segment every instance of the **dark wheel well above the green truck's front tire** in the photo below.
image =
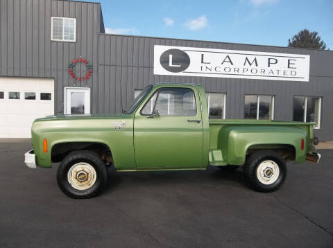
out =
[(112, 153), (108, 145), (98, 142), (66, 142), (53, 145), (51, 150), (51, 161), (58, 163), (62, 161), (70, 152), (77, 150), (91, 150), (101, 156), (103, 160), (105, 158), (112, 157)]

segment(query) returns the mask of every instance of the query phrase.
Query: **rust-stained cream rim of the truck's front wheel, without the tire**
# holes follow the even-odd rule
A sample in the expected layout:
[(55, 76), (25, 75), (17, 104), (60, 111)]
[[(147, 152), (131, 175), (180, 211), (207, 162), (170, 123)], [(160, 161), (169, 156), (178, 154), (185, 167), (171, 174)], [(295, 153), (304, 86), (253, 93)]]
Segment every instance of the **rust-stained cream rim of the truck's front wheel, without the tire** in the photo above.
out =
[(73, 188), (84, 191), (96, 182), (96, 170), (89, 163), (75, 163), (68, 170), (67, 180)]

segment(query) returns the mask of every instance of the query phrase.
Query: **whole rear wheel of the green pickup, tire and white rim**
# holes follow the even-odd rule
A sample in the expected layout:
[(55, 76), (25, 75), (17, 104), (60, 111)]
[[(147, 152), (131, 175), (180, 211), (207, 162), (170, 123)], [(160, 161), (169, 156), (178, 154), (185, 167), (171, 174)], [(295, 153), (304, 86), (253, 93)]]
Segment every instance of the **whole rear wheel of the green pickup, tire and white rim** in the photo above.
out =
[(257, 191), (272, 192), (282, 186), (287, 177), (284, 159), (271, 150), (255, 152), (244, 166), (246, 179)]

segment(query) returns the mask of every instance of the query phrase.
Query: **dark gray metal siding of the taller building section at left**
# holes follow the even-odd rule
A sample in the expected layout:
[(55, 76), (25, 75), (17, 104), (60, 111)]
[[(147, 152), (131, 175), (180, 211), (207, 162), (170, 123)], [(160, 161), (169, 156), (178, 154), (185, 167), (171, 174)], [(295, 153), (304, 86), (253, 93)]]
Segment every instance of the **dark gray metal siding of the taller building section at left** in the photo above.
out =
[[(54, 78), (55, 112), (62, 113), (63, 87), (73, 85), (67, 67), (74, 57), (92, 62), (87, 86), (98, 96), (99, 3), (62, 0), (1, 0), (0, 76)], [(76, 42), (51, 42), (51, 17), (76, 18)], [(85, 86), (85, 82), (76, 84)], [(92, 105), (97, 112), (97, 105)]]

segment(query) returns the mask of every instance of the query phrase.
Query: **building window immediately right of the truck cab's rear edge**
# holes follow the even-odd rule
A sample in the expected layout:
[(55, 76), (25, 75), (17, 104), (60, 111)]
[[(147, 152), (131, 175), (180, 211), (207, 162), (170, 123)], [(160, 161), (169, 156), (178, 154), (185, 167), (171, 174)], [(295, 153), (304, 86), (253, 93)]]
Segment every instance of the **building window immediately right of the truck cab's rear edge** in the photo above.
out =
[(225, 118), (225, 94), (206, 93), (210, 119)]

